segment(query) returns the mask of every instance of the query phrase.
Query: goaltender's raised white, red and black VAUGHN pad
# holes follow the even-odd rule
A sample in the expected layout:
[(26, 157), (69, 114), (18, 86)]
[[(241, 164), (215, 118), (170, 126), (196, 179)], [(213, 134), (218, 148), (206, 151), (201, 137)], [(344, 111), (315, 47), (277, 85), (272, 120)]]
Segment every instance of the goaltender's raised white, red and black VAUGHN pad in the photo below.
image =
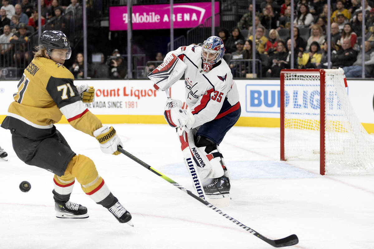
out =
[(156, 90), (165, 91), (182, 77), (186, 68), (187, 65), (183, 60), (171, 54), (161, 65), (148, 74), (148, 78), (154, 82), (153, 87)]

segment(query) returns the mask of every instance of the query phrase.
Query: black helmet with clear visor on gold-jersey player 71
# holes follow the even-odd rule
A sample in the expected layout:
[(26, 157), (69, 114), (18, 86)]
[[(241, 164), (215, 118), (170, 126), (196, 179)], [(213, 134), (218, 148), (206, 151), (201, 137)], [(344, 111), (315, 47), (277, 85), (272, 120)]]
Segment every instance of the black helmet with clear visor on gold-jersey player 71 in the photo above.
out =
[(71, 48), (70, 42), (66, 35), (59, 30), (46, 30), (40, 36), (39, 45), (43, 46), (47, 50), (47, 55), (50, 55), (52, 49), (67, 49), (68, 52), (66, 53), (65, 59), (70, 59), (71, 56)]

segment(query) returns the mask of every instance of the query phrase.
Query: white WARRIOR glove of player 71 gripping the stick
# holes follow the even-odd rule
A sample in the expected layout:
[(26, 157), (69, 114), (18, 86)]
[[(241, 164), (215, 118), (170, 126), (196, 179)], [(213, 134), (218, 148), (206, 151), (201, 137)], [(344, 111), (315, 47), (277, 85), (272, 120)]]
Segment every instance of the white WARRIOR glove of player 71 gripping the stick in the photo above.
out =
[(103, 127), (94, 131), (93, 136), (95, 136), (99, 141), (102, 152), (113, 155), (120, 154), (120, 152), (117, 150), (117, 146), (122, 146), (122, 142), (113, 126), (108, 127), (107, 125), (104, 125)]

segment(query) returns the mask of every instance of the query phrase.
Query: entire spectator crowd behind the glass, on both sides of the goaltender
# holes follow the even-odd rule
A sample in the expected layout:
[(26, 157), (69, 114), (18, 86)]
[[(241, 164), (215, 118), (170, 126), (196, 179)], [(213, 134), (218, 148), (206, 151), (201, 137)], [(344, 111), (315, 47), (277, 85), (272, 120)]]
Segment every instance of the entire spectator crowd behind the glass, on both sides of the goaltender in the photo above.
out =
[[(41, 24), (53, 22), (64, 27), (61, 21), (67, 13), (75, 13), (79, 0), (42, 0)], [(30, 35), (39, 29), (37, 0), (1, 0), (0, 9), (0, 67), (20, 66), (32, 58)], [(331, 65), (343, 68), (346, 77), (361, 77), (362, 59), (365, 77), (374, 77), (374, 6), (365, 0), (331, 1)], [(294, 40), (294, 68), (327, 68), (327, 16), (326, 0), (295, 1), (294, 20), (291, 20), (291, 0), (266, 0), (256, 6), (252, 24), (252, 4), (236, 27), (220, 28), (217, 35), (226, 49), (224, 60), (234, 77), (279, 77), (280, 71), (291, 68), (291, 40)], [(365, 35), (362, 37), (362, 20), (365, 15)], [(294, 25), (290, 37), (291, 22)], [(253, 31), (255, 35), (253, 37)], [(252, 41), (255, 54), (252, 60)], [(362, 54), (362, 41), (365, 53)], [(202, 42), (202, 41), (199, 41)], [(70, 71), (75, 78), (83, 78), (83, 54), (75, 52)], [(127, 59), (114, 50), (105, 57), (92, 56), (88, 64), (88, 77), (123, 79), (127, 77)], [(93, 57), (95, 56), (95, 60)], [(137, 70), (137, 78), (145, 78), (163, 60), (162, 53), (152, 56)], [(89, 58), (91, 61), (91, 58)], [(252, 72), (255, 63), (255, 72)], [(12, 64), (12, 65), (10, 65)], [(137, 65), (138, 66), (138, 65)], [(139, 66), (138, 66), (139, 68)], [(134, 77), (134, 75), (133, 75)]]

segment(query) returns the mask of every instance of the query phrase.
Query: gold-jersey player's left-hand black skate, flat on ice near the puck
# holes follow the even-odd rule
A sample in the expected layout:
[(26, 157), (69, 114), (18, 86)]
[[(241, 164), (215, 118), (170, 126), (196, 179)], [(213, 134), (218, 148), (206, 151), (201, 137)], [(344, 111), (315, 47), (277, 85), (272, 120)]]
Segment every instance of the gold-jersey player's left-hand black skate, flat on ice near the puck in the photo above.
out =
[(57, 218), (84, 219), (88, 218), (87, 208), (68, 200), (67, 202), (56, 202), (55, 210)]

